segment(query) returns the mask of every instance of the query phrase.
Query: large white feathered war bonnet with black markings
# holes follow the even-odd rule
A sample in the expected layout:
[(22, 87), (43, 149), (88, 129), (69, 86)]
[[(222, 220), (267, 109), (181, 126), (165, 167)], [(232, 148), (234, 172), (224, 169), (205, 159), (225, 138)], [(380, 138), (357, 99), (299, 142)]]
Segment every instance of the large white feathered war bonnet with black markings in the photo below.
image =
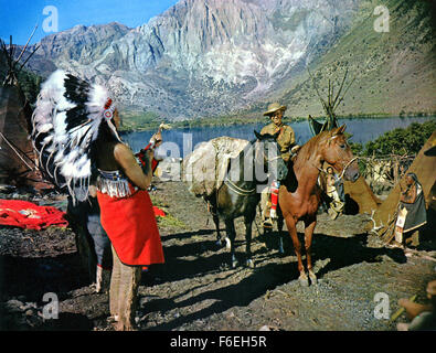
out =
[(43, 169), (73, 201), (84, 201), (95, 176), (94, 149), (102, 124), (120, 138), (111, 121), (115, 106), (108, 90), (64, 71), (42, 84), (32, 116), (32, 140)]

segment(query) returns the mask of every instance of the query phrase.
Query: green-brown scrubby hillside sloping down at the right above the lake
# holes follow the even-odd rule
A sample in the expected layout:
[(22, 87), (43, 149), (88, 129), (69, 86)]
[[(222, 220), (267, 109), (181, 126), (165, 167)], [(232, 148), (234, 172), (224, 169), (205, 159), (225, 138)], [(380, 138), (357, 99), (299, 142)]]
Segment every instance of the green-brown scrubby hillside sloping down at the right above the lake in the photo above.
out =
[[(376, 4), (362, 3), (351, 30), (311, 63), (321, 95), (327, 97), (329, 78), (338, 89), (348, 68), (347, 82), (354, 82), (338, 114), (435, 114), (435, 6), (432, 1), (386, 1), (389, 32), (376, 32)], [(293, 115), (322, 115), (307, 71), (284, 87), (274, 95), (293, 107)]]

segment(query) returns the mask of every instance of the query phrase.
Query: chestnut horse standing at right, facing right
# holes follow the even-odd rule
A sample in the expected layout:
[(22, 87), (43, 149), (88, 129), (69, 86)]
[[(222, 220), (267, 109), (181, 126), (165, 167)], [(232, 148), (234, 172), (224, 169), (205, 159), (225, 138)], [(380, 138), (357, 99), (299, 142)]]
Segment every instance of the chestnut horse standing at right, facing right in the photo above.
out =
[[(278, 203), (298, 258), (299, 281), (305, 287), (309, 286), (309, 279), (301, 261), (301, 246), (296, 226), (299, 221), (305, 222), (307, 270), (310, 281), (315, 285), (317, 276), (312, 270), (310, 249), (321, 199), (321, 190), (317, 183), (320, 169), (327, 162), (342, 173), (345, 180), (355, 182), (359, 178), (359, 167), (347, 143), (344, 130), (343, 125), (330, 131), (323, 131), (305, 143), (294, 160), (297, 185), (293, 183), (293, 173), (288, 173), (288, 178), (279, 189)], [(280, 226), (280, 222), (278, 225)], [(279, 228), (279, 233), (280, 231)]]

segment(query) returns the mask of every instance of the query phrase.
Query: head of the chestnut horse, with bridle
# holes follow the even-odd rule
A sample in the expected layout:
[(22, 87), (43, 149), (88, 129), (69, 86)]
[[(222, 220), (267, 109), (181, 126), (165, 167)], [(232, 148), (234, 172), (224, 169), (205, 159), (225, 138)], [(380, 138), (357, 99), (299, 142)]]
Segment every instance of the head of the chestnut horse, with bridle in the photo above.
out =
[(355, 182), (359, 178), (359, 165), (343, 135), (345, 128), (347, 126), (342, 125), (328, 132), (322, 159), (343, 174), (345, 180)]

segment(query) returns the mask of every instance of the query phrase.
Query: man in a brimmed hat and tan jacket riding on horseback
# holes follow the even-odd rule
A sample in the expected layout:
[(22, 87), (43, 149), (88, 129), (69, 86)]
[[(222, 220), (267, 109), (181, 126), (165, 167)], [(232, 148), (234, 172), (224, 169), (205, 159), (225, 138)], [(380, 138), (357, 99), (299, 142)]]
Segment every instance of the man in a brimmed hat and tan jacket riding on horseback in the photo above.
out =
[[(295, 142), (295, 132), (293, 128), (289, 125), (283, 124), (281, 121), (286, 108), (286, 106), (281, 106), (278, 103), (273, 103), (268, 106), (268, 110), (264, 113), (264, 116), (268, 116), (272, 122), (260, 130), (260, 135), (275, 135), (279, 132), (277, 137), (277, 143), (280, 147), (283, 160), (288, 163), (289, 159), (293, 158), (300, 147)], [(274, 180), (269, 188), (265, 188), (264, 192), (262, 193), (260, 206), (263, 210), (264, 227), (272, 227), (273, 220), (277, 218), (279, 188), (280, 181)]]

